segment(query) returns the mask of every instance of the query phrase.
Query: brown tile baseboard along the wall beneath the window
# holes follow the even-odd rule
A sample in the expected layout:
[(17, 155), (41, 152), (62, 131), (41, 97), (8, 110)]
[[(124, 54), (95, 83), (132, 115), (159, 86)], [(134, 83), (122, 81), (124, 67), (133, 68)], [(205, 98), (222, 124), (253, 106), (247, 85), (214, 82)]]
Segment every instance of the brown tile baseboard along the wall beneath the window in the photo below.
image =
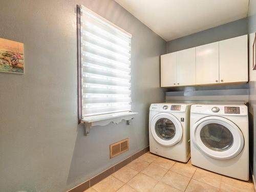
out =
[(95, 185), (96, 183), (100, 182), (101, 180), (105, 179), (106, 177), (110, 176), (114, 172), (116, 172), (118, 169), (122, 168), (123, 166), (127, 165), (128, 163), (132, 162), (133, 160), (137, 159), (141, 155), (147, 153), (150, 151), (150, 147), (147, 146), (143, 148), (143, 150), (135, 153), (134, 155), (124, 159), (123, 161), (115, 164), (114, 166), (104, 170), (102, 173), (96, 175), (95, 177), (89, 179), (88, 181), (85, 181), (74, 188), (68, 190), (67, 192), (83, 192), (84, 190), (90, 188), (91, 186)]

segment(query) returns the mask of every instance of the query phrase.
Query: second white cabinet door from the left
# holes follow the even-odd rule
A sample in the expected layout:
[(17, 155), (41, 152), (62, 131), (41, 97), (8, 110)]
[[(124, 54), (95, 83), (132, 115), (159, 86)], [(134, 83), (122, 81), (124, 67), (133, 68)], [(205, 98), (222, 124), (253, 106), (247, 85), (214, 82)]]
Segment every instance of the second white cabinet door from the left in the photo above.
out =
[(177, 85), (196, 84), (196, 48), (177, 52)]

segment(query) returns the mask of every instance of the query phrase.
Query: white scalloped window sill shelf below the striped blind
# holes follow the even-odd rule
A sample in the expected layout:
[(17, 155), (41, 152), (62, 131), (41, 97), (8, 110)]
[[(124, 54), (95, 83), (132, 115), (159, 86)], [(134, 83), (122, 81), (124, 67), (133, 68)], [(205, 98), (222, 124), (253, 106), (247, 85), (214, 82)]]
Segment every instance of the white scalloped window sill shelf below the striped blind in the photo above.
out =
[(104, 115), (94, 115), (90, 117), (83, 117), (81, 122), (84, 125), (85, 135), (90, 133), (92, 126), (104, 126), (111, 122), (118, 124), (122, 120), (125, 120), (127, 124), (130, 124), (130, 120), (134, 119), (134, 116), (138, 113), (132, 112), (119, 112), (119, 113), (110, 113)]

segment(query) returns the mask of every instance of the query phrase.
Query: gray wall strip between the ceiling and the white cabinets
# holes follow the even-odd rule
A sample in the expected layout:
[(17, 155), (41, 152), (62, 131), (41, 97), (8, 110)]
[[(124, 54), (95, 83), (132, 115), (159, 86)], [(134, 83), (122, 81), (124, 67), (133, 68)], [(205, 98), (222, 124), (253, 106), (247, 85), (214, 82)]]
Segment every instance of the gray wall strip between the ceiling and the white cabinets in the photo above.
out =
[(247, 34), (247, 18), (168, 41), (167, 53)]

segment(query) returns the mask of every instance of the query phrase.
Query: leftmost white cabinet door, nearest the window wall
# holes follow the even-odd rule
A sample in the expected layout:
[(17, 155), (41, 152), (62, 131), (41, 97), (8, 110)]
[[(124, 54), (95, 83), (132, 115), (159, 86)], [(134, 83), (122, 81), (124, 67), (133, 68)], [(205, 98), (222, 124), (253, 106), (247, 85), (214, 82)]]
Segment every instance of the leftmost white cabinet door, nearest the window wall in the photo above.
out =
[(176, 86), (176, 52), (161, 55), (161, 87)]

